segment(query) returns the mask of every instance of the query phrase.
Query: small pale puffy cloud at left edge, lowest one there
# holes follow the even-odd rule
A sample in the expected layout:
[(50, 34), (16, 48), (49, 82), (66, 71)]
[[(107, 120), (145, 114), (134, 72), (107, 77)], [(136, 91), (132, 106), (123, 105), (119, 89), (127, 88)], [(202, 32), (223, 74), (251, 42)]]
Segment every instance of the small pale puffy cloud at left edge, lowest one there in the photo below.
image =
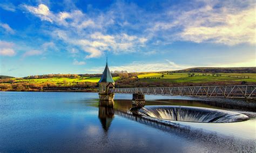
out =
[(0, 40), (0, 55), (3, 56), (14, 56), (16, 52), (14, 50), (14, 43)]

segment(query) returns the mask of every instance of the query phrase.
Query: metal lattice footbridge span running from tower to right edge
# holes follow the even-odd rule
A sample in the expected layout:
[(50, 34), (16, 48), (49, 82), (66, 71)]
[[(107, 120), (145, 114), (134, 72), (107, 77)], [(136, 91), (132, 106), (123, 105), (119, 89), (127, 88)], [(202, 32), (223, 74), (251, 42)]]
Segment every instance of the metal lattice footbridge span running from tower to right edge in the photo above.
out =
[(256, 99), (256, 85), (114, 88), (111, 93)]

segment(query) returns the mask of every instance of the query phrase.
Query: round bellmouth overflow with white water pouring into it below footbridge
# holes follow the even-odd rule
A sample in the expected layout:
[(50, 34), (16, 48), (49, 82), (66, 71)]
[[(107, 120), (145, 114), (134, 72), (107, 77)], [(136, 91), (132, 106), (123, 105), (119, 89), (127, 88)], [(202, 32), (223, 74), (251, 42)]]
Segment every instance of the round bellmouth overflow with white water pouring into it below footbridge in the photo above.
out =
[(187, 106), (145, 106), (133, 113), (157, 119), (202, 123), (231, 123), (249, 119), (244, 114), (227, 110)]

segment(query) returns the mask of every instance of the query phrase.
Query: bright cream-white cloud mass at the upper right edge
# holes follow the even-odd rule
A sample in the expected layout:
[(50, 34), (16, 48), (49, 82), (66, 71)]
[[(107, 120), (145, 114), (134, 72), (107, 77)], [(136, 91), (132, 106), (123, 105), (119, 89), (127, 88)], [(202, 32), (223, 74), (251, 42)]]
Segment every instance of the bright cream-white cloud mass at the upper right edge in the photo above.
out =
[[(255, 44), (255, 8), (233, 11), (221, 10), (220, 13), (215, 13), (212, 9), (206, 9), (205, 12), (200, 12), (207, 15), (207, 17), (201, 17), (200, 24), (186, 26), (184, 31), (179, 34), (182, 39), (196, 43), (210, 41), (226, 45)], [(211, 25), (214, 23), (217, 25)]]

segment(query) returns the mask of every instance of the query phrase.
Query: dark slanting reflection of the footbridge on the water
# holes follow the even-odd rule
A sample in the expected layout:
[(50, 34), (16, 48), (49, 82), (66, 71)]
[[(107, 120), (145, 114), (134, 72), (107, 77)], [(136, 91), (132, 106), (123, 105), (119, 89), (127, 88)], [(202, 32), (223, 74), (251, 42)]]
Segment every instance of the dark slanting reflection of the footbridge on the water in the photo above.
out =
[[(207, 144), (206, 140), (208, 140), (211, 142), (210, 144), (207, 144), (208, 147), (210, 146), (213, 147), (214, 144), (218, 144), (218, 147), (221, 149), (235, 150), (237, 152), (241, 152), (241, 151), (245, 151), (242, 148), (247, 148), (247, 146), (254, 146), (255, 144), (254, 141), (238, 142), (234, 140), (232, 137), (223, 137), (218, 135), (217, 133), (208, 133), (203, 131), (203, 129), (194, 129), (179, 123), (169, 122), (166, 120), (158, 120), (156, 118), (147, 117), (147, 116), (142, 116), (142, 117), (134, 116), (131, 112), (123, 112), (117, 109), (115, 109), (114, 111), (118, 116), (125, 117), (126, 119), (136, 121), (141, 124), (145, 124), (152, 128), (166, 131), (167, 133), (171, 133), (173, 135), (186, 138), (190, 141), (196, 141), (201, 145)], [(217, 150), (217, 148), (215, 149)], [(250, 149), (253, 150), (255, 149), (255, 147)]]

